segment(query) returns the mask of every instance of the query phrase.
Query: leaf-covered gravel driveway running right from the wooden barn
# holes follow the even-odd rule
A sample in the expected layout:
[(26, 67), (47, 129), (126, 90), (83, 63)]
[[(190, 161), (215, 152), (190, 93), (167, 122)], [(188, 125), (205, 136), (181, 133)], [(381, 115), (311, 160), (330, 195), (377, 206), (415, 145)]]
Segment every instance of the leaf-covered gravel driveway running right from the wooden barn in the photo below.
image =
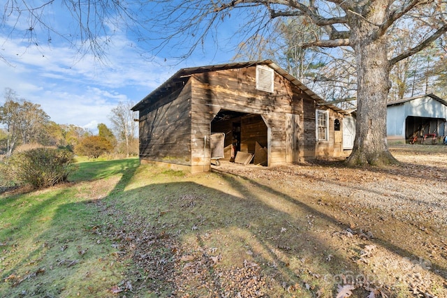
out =
[(447, 146), (395, 145), (391, 151), (401, 165), (348, 168), (339, 161), (318, 161), (267, 168), (223, 163), (219, 171), (263, 181), (294, 197), (305, 193), (300, 200), (349, 224), (342, 237), (372, 241), (370, 246), (340, 245), (360, 251), (351, 255), (353, 262), (373, 267), (372, 274), (382, 276), (386, 288), (397, 280), (409, 285), (414, 297), (447, 297)]

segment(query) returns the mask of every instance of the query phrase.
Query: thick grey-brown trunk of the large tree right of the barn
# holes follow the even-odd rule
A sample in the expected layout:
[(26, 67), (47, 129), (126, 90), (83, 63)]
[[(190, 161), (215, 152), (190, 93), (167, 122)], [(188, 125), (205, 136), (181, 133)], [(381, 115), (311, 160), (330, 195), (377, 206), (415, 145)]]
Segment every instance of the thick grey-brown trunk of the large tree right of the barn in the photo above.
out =
[[(381, 1), (377, 1), (381, 2)], [(386, 6), (383, 6), (386, 7)], [(357, 62), (356, 139), (349, 165), (388, 165), (397, 163), (386, 140), (386, 101), (390, 90), (390, 67), (386, 40), (374, 36), (374, 24), (381, 23), (377, 8), (374, 17), (351, 24), (351, 45)]]

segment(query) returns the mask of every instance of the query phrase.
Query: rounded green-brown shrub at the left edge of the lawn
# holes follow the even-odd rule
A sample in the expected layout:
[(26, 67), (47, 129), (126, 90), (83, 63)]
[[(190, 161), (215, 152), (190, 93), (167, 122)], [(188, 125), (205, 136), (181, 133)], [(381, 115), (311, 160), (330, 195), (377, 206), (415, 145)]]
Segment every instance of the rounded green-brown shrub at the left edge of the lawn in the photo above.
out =
[(11, 179), (34, 188), (67, 181), (68, 174), (75, 170), (72, 152), (48, 147), (16, 152), (7, 165)]

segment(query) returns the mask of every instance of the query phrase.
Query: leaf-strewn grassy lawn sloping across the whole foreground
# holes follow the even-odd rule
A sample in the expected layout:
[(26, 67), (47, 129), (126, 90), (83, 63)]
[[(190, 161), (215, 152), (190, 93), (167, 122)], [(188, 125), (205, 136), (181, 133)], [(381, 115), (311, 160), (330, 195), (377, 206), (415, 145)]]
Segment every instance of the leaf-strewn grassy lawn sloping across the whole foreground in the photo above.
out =
[[(305, 179), (293, 171), (288, 180), (267, 169), (191, 175), (138, 159), (78, 165), (69, 184), (0, 195), (0, 297), (336, 297), (338, 285), (365, 276), (351, 297), (419, 297), (380, 263), (405, 267), (423, 255), (391, 245), (396, 231), (423, 243), (436, 235), (350, 209), (349, 198), (300, 191)], [(379, 224), (374, 239), (356, 232), (365, 218)], [(446, 297), (445, 277), (430, 276), (426, 288)]]

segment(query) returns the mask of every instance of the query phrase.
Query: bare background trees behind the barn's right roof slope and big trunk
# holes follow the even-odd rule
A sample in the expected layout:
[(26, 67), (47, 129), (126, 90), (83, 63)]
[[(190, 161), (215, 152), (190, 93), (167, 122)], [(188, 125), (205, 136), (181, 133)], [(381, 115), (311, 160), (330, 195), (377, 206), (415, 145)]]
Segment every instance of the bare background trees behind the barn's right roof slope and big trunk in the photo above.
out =
[[(241, 43), (235, 60), (274, 59), (307, 87), (325, 100), (345, 100), (337, 103), (349, 110), (356, 107), (357, 73), (353, 51), (347, 47), (321, 50), (317, 47), (300, 47), (314, 38), (321, 39), (323, 29), (306, 17), (277, 20), (268, 38), (257, 36), (252, 44)], [(418, 24), (391, 31), (389, 55), (410, 47), (418, 36)], [(388, 101), (434, 93), (447, 96), (447, 45), (439, 39), (424, 50), (398, 61), (390, 69)]]

